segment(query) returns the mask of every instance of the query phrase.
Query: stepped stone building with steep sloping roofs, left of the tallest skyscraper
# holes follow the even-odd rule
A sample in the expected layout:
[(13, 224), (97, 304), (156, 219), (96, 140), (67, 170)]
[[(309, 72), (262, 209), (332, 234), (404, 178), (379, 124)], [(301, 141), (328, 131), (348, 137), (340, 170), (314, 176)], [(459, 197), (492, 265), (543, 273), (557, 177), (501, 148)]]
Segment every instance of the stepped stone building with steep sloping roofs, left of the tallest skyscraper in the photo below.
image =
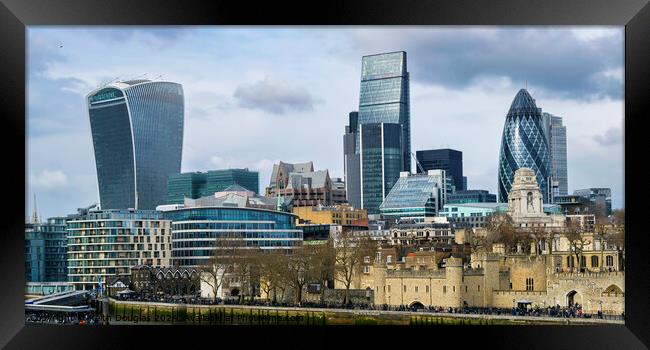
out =
[(310, 207), (345, 203), (340, 183), (335, 187), (329, 171), (314, 170), (312, 162), (273, 165), (265, 196), (289, 202), (288, 207)]

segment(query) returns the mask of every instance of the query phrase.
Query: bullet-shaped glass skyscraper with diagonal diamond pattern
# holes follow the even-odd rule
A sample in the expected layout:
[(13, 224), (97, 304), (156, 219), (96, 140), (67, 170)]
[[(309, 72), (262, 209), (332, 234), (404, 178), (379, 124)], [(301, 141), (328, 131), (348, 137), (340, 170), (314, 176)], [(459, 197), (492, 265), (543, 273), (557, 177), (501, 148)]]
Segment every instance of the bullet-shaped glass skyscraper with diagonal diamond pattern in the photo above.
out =
[(551, 156), (540, 109), (526, 89), (521, 89), (510, 105), (503, 126), (499, 153), (499, 202), (508, 201), (515, 171), (535, 172), (544, 203), (551, 203), (549, 190)]

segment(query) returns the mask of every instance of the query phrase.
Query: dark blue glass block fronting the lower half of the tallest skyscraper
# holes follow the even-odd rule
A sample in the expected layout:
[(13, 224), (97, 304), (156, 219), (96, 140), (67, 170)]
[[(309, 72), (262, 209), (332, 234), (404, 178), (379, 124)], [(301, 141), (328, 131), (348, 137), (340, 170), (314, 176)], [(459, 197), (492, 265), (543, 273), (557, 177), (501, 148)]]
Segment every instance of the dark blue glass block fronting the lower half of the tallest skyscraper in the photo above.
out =
[(379, 206), (399, 180), (402, 126), (394, 123), (359, 125), (361, 208), (378, 214)]

